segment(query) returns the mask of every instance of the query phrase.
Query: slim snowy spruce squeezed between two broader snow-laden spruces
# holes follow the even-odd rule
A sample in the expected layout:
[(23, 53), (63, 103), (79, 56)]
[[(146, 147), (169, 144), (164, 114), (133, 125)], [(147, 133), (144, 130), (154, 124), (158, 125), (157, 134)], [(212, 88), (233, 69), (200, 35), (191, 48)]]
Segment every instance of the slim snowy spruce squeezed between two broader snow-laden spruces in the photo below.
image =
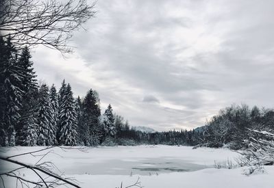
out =
[(58, 110), (59, 110), (59, 104), (58, 104), (58, 96), (56, 92), (56, 88), (53, 85), (51, 85), (51, 89), (49, 91), (49, 100), (51, 102), (51, 108), (52, 108), (52, 130), (53, 130), (53, 137), (54, 142), (52, 144), (57, 144), (57, 129), (58, 129)]

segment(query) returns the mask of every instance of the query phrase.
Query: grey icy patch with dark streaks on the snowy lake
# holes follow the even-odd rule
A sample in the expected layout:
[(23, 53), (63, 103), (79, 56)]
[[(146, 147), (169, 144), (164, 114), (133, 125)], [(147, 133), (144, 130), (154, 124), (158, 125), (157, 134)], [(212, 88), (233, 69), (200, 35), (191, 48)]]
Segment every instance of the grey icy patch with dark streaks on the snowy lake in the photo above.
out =
[(204, 169), (206, 165), (188, 163), (176, 158), (141, 158), (134, 160), (110, 159), (101, 163), (81, 163), (62, 168), (66, 174), (110, 174), (110, 175), (151, 175), (169, 172), (191, 172)]

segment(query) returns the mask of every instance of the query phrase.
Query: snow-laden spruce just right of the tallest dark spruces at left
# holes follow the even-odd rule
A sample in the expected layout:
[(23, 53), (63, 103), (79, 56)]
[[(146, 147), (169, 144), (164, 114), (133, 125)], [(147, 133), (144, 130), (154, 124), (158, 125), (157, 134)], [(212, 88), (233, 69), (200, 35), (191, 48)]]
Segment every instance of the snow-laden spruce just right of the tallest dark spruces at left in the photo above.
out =
[(52, 122), (53, 111), (49, 100), (49, 87), (42, 84), (38, 99), (38, 142), (39, 146), (50, 146), (55, 142)]

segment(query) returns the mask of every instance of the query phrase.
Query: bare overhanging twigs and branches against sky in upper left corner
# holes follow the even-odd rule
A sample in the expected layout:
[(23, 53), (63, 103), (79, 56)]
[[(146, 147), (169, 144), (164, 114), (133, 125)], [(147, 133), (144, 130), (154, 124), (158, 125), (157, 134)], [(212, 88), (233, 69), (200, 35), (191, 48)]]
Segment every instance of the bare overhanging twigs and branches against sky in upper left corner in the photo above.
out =
[(86, 0), (0, 0), (0, 34), (18, 48), (42, 44), (69, 53), (69, 38), (95, 16), (94, 8)]

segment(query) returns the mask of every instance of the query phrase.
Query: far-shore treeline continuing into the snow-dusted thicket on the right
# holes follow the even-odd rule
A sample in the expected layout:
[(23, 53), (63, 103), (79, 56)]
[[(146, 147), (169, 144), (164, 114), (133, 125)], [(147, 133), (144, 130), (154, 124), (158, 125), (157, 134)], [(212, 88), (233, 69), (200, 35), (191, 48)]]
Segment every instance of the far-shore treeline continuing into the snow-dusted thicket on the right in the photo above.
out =
[[(186, 146), (227, 147), (246, 150), (254, 140), (269, 140), (274, 135), (274, 109), (259, 109), (248, 105), (232, 105), (221, 109), (205, 126), (192, 131), (142, 133), (128, 130), (119, 135), (140, 144), (168, 144)], [(266, 134), (266, 135), (267, 135)], [(271, 146), (273, 148), (273, 146)]]

